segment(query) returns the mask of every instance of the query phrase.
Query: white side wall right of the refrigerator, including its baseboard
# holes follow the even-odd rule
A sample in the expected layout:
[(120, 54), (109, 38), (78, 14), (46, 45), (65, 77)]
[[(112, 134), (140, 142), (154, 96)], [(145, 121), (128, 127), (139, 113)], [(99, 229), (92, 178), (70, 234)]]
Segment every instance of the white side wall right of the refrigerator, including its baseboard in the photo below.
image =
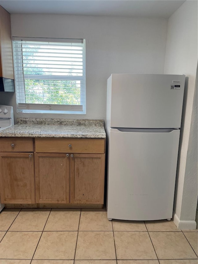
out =
[(197, 1), (186, 1), (168, 20), (164, 68), (165, 74), (186, 75), (174, 199), (174, 219), (180, 228), (196, 226), (197, 58)]

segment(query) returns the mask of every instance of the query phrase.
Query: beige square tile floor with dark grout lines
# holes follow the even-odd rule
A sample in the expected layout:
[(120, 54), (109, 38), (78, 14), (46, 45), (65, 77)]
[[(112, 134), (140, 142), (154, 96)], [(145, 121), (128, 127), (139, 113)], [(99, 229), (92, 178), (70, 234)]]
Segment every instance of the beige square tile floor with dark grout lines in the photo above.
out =
[(197, 231), (102, 209), (3, 210), (0, 264), (197, 264)]

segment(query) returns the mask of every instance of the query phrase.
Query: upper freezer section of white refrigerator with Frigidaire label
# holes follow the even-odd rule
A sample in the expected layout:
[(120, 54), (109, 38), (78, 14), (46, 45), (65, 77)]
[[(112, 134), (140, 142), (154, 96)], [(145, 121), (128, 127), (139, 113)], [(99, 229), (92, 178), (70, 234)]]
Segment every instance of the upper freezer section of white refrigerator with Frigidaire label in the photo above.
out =
[(180, 128), (184, 75), (112, 74), (107, 119), (114, 128)]

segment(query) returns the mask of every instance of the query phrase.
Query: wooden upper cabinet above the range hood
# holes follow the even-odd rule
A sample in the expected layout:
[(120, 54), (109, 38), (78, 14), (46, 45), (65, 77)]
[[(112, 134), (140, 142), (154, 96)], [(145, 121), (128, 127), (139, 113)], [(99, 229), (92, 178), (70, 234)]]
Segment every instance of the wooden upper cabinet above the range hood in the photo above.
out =
[(0, 6), (0, 77), (14, 79), (10, 14)]

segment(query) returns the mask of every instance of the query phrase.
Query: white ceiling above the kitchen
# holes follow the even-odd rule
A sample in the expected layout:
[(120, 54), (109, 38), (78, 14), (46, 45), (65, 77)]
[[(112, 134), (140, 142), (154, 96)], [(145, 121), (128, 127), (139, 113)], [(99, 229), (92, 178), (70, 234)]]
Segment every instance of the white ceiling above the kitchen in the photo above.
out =
[(180, 0), (0, 0), (11, 14), (107, 15), (169, 18)]

